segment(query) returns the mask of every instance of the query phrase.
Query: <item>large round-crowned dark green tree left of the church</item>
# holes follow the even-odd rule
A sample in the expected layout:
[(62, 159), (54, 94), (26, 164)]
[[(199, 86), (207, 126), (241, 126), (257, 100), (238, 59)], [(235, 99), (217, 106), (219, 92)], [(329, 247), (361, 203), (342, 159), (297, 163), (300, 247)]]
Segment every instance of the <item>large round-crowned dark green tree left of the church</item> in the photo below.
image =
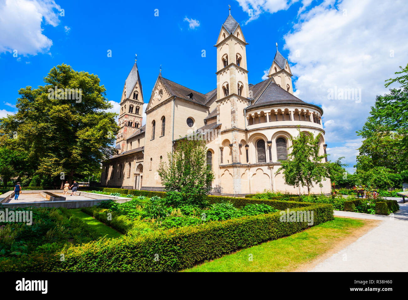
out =
[[(115, 113), (106, 99), (103, 85), (94, 74), (74, 71), (69, 65), (53, 67), (44, 86), (20, 89), (21, 97), (13, 116), (0, 119), (1, 143), (15, 132), (15, 151), (27, 156), (32, 175), (72, 180), (79, 174), (100, 169), (100, 162), (112, 153), (118, 132)], [(80, 99), (69, 99), (57, 89), (77, 89)], [(1, 133), (0, 132), (0, 133)]]

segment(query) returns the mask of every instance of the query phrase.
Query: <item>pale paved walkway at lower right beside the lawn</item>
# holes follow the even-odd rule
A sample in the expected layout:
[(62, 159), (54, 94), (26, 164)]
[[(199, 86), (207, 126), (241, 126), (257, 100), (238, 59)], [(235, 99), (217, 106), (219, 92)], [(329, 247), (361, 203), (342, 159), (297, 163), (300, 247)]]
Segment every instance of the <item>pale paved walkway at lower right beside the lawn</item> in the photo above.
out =
[[(399, 201), (400, 202), (400, 201)], [(335, 216), (381, 220), (379, 226), (317, 264), (309, 272), (406, 272), (408, 270), (408, 202), (394, 216), (335, 211)]]

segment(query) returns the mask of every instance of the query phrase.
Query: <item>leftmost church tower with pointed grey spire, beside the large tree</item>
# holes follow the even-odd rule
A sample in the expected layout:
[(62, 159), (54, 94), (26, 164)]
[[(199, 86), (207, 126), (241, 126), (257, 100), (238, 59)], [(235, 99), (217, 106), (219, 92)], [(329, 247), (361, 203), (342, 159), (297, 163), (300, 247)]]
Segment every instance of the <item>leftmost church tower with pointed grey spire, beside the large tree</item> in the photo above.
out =
[(116, 137), (118, 154), (126, 151), (126, 139), (142, 127), (143, 92), (137, 64), (126, 78), (119, 111), (119, 133)]

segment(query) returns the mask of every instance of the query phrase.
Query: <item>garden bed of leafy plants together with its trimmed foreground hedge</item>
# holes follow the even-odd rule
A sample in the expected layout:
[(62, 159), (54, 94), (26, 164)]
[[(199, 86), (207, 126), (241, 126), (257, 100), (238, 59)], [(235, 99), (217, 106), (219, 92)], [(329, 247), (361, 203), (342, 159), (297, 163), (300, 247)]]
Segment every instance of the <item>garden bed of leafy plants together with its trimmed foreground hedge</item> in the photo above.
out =
[[(213, 202), (210, 208), (197, 208), (197, 211), (193, 207), (168, 207), (166, 210), (144, 198), (126, 202), (125, 207), (104, 203), (104, 207), (84, 208), (83, 211), (92, 213), (126, 236), (66, 246), (60, 251), (64, 253), (64, 261), (59, 260), (58, 253), (5, 260), (0, 262), (0, 270), (177, 271), (312, 226), (307, 220), (283, 222), (280, 210), (295, 216), (304, 211), (313, 212), (313, 225), (333, 220), (330, 204), (215, 196), (210, 199)], [(220, 203), (225, 200), (231, 202)], [(157, 199), (153, 199), (155, 201)], [(269, 210), (269, 213), (262, 209)], [(205, 220), (202, 220), (203, 211)], [(109, 213), (112, 214), (111, 220)], [(148, 217), (153, 218), (149, 222), (143, 221), (143, 216), (149, 213), (152, 215)]]

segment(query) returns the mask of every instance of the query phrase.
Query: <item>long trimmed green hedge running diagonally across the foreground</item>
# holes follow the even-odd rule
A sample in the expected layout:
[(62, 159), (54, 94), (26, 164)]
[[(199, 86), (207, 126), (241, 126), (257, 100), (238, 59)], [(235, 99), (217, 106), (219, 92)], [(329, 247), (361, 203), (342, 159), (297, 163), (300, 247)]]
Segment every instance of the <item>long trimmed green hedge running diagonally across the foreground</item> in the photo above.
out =
[[(224, 197), (225, 198), (225, 197)], [(211, 199), (211, 198), (210, 198)], [(220, 201), (213, 196), (214, 202)], [(224, 200), (224, 199), (223, 199)], [(331, 204), (233, 198), (235, 204), (267, 203), (282, 210), (313, 211), (313, 225), (333, 220)], [(286, 207), (284, 207), (286, 205)], [(309, 227), (307, 222), (281, 222), (279, 212), (213, 221), (143, 236), (100, 239), (68, 247), (47, 259), (25, 256), (0, 261), (0, 271), (177, 271), (205, 260)], [(65, 260), (60, 261), (60, 253)]]

